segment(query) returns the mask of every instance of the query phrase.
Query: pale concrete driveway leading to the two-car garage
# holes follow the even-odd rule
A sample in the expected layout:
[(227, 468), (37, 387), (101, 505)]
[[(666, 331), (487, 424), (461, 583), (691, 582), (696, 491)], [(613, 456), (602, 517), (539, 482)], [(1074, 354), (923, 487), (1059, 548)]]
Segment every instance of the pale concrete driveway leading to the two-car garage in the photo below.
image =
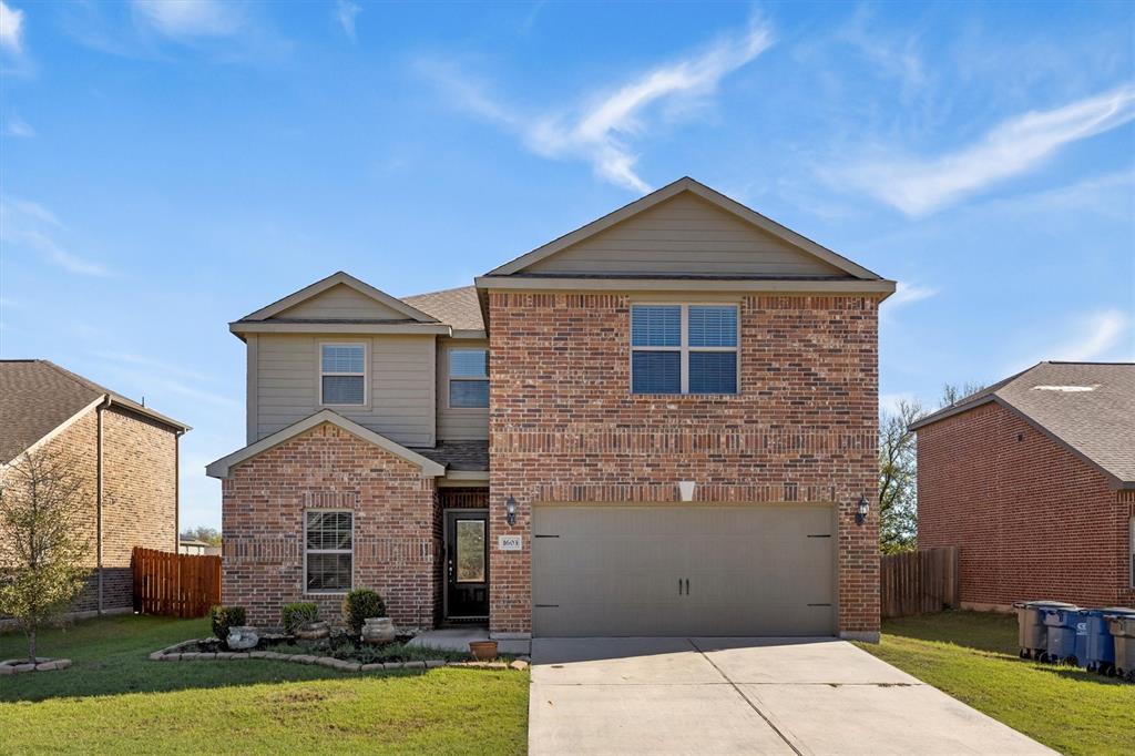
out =
[(532, 641), (529, 753), (1053, 754), (833, 639)]

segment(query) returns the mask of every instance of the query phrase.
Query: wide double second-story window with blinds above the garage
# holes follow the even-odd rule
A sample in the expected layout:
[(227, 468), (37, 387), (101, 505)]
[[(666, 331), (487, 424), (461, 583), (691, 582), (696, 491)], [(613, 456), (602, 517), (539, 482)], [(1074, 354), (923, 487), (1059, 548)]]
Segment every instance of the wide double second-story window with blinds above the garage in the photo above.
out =
[(734, 304), (631, 306), (631, 392), (735, 394)]

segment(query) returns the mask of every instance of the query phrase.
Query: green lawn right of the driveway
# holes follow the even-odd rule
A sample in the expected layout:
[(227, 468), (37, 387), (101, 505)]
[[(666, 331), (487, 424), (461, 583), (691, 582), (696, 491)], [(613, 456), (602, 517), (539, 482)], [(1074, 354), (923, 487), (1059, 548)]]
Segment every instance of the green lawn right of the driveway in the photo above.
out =
[(1135, 684), (1017, 656), (1017, 620), (947, 612), (883, 622), (861, 648), (1067, 754), (1135, 754)]

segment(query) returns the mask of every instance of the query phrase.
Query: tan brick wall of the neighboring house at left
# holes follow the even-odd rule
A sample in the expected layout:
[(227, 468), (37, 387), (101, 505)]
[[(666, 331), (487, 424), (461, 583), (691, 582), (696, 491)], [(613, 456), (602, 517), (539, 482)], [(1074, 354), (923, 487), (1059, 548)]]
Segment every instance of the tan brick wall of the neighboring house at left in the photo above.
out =
[(110, 406), (92, 409), (47, 442), (43, 453), (64, 453), (81, 481), (78, 518), (92, 574), (73, 604), (99, 611), (96, 557), (99, 415), (102, 417), (102, 610), (134, 606), (131, 553), (135, 546), (177, 548), (177, 436), (168, 427)]

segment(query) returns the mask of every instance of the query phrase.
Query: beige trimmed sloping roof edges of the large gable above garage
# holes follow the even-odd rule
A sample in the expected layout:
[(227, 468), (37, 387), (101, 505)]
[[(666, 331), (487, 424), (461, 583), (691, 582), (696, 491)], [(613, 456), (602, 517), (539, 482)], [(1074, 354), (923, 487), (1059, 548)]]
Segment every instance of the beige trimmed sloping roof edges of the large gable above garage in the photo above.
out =
[(570, 234), (565, 234), (557, 240), (532, 250), (528, 254), (523, 254), (511, 262), (506, 262), (505, 264), (485, 274), (484, 278), (523, 274), (528, 268), (537, 262), (540, 262), (541, 260), (545, 260), (570, 246), (579, 244), (583, 240), (595, 236), (596, 234), (599, 234), (612, 226), (627, 220), (628, 218), (637, 216), (674, 196), (678, 196), (683, 192), (689, 192), (706, 202), (709, 202), (716, 208), (740, 218), (741, 220), (759, 228), (763, 232), (766, 232), (767, 234), (771, 234), (801, 252), (809, 254), (833, 268), (836, 268), (843, 274), (847, 274), (850, 278), (859, 280), (883, 280), (877, 274), (867, 270), (863, 266), (851, 262), (847, 258), (832, 252), (825, 246), (821, 246), (816, 242), (801, 236), (785, 226), (781, 226), (776, 221), (745, 207), (735, 200), (731, 200), (724, 194), (709, 188), (705, 184), (701, 184), (689, 176), (679, 178), (676, 182), (667, 184), (666, 186), (663, 186), (662, 188), (651, 192), (650, 194), (647, 194), (646, 196), (636, 200), (634, 202), (631, 202), (630, 204), (627, 204), (619, 210), (599, 218), (598, 220), (594, 220), (581, 228), (577, 228)]

